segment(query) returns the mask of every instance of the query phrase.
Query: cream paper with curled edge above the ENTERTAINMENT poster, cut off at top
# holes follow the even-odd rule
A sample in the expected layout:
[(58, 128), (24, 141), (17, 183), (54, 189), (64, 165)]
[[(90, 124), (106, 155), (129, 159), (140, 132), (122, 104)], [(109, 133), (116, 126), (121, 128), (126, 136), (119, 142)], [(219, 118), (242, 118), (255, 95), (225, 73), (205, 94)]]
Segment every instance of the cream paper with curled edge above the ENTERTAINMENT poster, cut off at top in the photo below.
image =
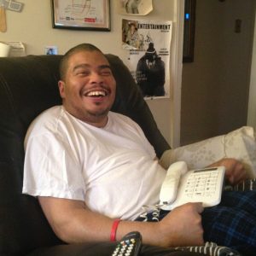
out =
[(152, 0), (119, 0), (122, 15), (148, 15), (152, 10)]

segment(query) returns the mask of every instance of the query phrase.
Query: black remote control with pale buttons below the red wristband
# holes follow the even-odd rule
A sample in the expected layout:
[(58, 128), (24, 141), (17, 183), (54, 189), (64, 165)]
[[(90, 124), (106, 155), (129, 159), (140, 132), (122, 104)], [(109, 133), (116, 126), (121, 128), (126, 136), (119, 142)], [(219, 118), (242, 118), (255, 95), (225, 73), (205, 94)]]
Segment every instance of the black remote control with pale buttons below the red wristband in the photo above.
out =
[(137, 256), (142, 247), (142, 236), (133, 231), (126, 234), (115, 247), (112, 256)]

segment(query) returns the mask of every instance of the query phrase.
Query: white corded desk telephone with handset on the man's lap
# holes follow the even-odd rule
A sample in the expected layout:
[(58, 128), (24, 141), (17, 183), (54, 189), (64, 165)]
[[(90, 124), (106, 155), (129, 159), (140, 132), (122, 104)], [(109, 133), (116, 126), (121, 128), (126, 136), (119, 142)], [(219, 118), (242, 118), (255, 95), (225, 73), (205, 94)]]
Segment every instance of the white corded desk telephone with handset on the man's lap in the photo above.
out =
[(161, 209), (172, 210), (187, 202), (202, 202), (203, 207), (218, 205), (224, 172), (224, 166), (188, 171), (183, 161), (172, 164), (160, 189)]

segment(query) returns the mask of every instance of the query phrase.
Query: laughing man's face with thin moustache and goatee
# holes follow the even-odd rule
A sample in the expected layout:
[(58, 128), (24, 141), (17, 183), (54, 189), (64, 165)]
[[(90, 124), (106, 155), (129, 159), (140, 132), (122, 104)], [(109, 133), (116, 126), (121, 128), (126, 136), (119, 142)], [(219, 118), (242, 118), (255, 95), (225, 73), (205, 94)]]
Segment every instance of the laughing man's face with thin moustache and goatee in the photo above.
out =
[(68, 60), (65, 81), (59, 82), (67, 112), (98, 127), (107, 124), (115, 89), (108, 60), (96, 50), (73, 54)]

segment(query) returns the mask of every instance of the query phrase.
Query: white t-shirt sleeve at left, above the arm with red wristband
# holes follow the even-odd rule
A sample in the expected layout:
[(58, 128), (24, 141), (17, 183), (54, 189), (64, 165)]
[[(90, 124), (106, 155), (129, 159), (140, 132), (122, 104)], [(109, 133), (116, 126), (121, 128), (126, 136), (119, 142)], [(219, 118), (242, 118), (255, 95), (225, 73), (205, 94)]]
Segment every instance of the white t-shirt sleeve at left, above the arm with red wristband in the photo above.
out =
[(23, 193), (84, 201), (79, 158), (57, 134), (30, 137), (26, 143)]

